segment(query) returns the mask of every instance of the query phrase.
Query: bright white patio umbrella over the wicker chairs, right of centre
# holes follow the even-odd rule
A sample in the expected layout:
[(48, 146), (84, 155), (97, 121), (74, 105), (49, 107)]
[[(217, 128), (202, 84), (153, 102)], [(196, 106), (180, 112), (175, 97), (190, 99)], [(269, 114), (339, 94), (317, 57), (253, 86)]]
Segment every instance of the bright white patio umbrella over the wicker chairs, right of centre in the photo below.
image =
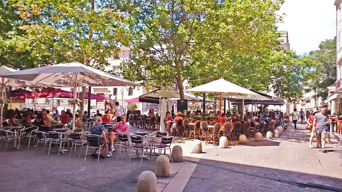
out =
[[(244, 87), (236, 85), (232, 82), (226, 81), (223, 78), (219, 80), (212, 81), (210, 83), (206, 83), (203, 85), (199, 85), (197, 87), (190, 88), (185, 91), (199, 92), (199, 93), (212, 93), (212, 94), (220, 94), (220, 114), (221, 114), (221, 102), (222, 102), (222, 94), (224, 95), (256, 95), (254, 93)], [(242, 106), (244, 106), (244, 99), (242, 99)], [(244, 116), (244, 110), (242, 110), (242, 117)]]

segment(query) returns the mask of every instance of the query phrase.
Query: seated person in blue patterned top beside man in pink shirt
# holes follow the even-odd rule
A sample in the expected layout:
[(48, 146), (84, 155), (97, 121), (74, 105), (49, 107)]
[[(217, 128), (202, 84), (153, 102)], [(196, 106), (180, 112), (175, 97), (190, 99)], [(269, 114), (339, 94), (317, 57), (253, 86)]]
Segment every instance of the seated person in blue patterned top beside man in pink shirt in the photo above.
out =
[[(107, 143), (108, 141), (107, 141), (106, 134), (105, 134), (105, 126), (102, 125), (101, 123), (102, 123), (102, 117), (101, 116), (96, 116), (95, 124), (90, 128), (90, 134), (92, 134), (92, 135), (100, 135), (100, 136), (103, 137), (103, 141), (102, 141), (102, 143), (100, 141), (100, 145), (104, 144), (105, 146), (102, 148), (102, 151), (100, 153), (100, 157), (102, 159), (104, 159), (104, 158), (106, 158), (104, 156), (105, 151), (108, 150), (108, 143)], [(94, 156), (94, 157), (97, 157), (96, 151), (97, 151), (97, 149), (95, 149), (91, 155)]]

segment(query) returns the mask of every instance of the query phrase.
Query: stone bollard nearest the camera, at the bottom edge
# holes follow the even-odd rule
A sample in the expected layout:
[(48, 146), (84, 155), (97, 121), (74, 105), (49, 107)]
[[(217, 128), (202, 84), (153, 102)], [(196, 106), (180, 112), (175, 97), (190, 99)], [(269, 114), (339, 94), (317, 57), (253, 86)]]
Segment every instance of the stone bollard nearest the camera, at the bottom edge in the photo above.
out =
[(139, 175), (137, 192), (157, 192), (157, 178), (152, 171), (144, 171)]

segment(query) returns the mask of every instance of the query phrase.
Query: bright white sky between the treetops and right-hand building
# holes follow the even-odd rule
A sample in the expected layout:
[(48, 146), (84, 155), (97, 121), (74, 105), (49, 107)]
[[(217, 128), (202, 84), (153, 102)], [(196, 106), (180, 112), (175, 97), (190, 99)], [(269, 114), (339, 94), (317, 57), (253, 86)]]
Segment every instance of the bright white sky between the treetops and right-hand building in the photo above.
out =
[(334, 0), (285, 0), (279, 15), (285, 13), (278, 30), (288, 31), (291, 50), (299, 55), (317, 50), (321, 41), (336, 36)]

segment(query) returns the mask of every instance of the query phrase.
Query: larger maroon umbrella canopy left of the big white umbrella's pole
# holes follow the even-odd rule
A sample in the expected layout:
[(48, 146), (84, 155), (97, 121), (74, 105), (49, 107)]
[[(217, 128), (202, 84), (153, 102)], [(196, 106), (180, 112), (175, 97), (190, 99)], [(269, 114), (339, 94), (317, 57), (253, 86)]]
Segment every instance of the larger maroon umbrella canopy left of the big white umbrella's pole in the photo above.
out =
[(71, 92), (63, 91), (57, 88), (48, 88), (41, 91), (35, 91), (30, 94), (23, 95), (19, 98), (21, 99), (31, 99), (31, 98), (52, 98), (52, 97), (66, 97), (72, 98), (74, 95)]

